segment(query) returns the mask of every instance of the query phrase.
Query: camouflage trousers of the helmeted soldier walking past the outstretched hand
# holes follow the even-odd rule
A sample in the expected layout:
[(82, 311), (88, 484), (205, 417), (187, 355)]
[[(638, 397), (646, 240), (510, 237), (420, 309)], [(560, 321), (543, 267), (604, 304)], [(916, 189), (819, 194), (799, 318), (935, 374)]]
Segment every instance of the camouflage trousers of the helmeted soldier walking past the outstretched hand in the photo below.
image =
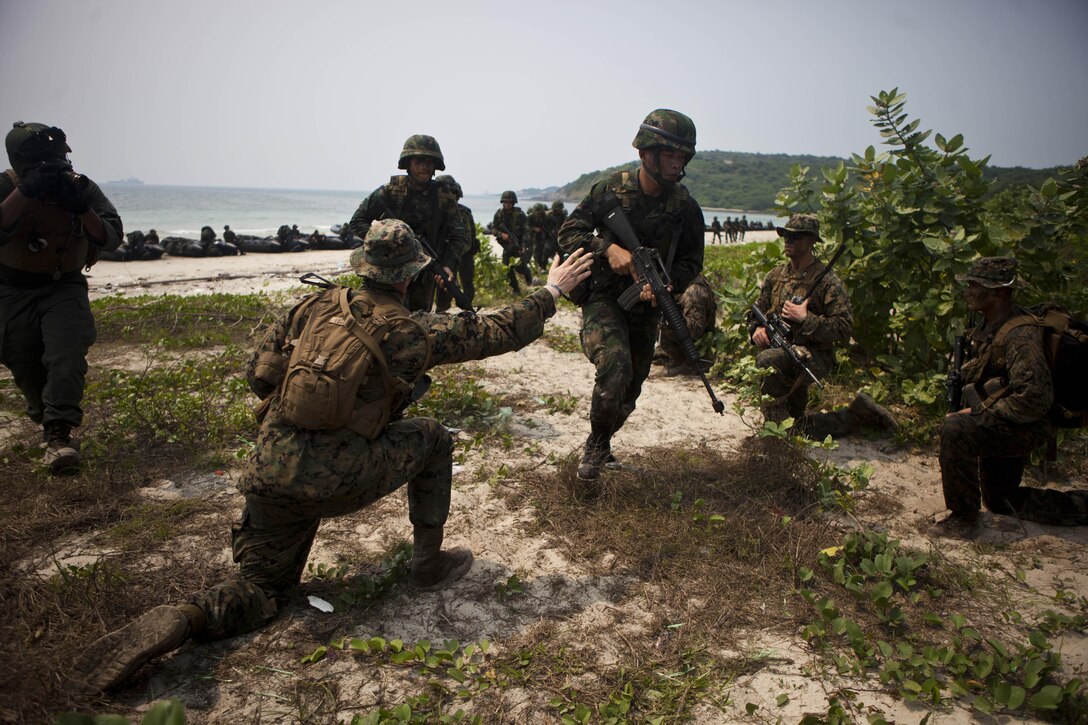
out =
[(582, 306), (582, 352), (596, 367), (590, 430), (609, 440), (634, 411), (650, 374), (657, 341), (657, 310), (638, 304), (625, 310), (616, 297), (593, 292)]

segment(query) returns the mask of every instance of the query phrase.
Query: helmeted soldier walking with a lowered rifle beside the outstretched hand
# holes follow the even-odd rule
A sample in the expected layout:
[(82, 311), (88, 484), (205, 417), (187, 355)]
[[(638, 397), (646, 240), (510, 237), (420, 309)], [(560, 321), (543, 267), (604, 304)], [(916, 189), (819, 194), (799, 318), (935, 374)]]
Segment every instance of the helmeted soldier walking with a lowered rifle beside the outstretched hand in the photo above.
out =
[(668, 266), (675, 294), (683, 294), (703, 269), (703, 212), (679, 183), (695, 156), (695, 124), (677, 111), (652, 111), (632, 146), (641, 165), (594, 184), (559, 230), (564, 254), (583, 248), (595, 259), (589, 282), (572, 296), (582, 306), (582, 351), (596, 367), (590, 434), (578, 470), (579, 479), (589, 482), (597, 480), (611, 458), (611, 438), (634, 410), (653, 362), (658, 322), (648, 299), (630, 310), (619, 304), (634, 282), (633, 266), (630, 253), (605, 226), (602, 205), (619, 201), (640, 242), (657, 249)]

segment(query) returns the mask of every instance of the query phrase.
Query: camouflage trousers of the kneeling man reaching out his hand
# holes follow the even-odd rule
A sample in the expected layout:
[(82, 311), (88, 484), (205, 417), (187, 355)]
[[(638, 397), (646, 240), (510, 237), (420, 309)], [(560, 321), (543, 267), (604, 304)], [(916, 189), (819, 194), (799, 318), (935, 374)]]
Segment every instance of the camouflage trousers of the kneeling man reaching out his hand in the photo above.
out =
[(431, 418), (394, 421), (373, 441), (265, 421), (239, 483), (238, 576), (189, 599), (208, 618), (199, 637), (234, 637), (275, 616), (301, 579), (322, 518), (357, 512), (407, 483), (412, 525), (444, 526), (452, 472), (453, 439)]

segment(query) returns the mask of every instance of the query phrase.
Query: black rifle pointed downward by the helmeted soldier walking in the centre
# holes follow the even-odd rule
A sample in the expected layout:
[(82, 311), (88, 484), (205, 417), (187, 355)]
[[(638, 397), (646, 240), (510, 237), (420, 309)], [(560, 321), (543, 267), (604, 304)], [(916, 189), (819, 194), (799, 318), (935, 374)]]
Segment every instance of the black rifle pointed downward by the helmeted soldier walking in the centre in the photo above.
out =
[[(634, 229), (631, 226), (630, 220), (628, 220), (622, 207), (620, 207), (619, 199), (615, 196), (610, 198), (606, 197), (605, 202), (602, 204), (599, 216), (604, 220), (605, 226), (611, 230), (623, 247), (631, 253), (631, 261), (634, 265), (634, 272), (638, 280), (631, 287), (625, 291), (622, 297), (630, 297), (631, 291), (635, 290), (634, 297), (638, 298), (643, 285), (650, 285), (654, 297), (657, 298), (657, 307), (662, 310), (665, 323), (669, 325), (676, 335), (677, 344), (683, 351), (683, 356), (688, 359), (688, 365), (698, 373), (700, 380), (703, 381), (703, 386), (706, 388), (706, 392), (710, 396), (710, 405), (714, 407), (714, 411), (724, 416), (726, 414), (726, 405), (714, 394), (714, 389), (710, 388), (709, 381), (707, 381), (706, 376), (703, 373), (703, 359), (698, 356), (698, 351), (695, 349), (695, 343), (691, 339), (691, 331), (688, 329), (688, 323), (684, 322), (683, 312), (669, 291), (668, 271), (665, 269), (665, 265), (662, 263), (662, 258), (657, 254), (657, 249), (642, 246), (638, 234), (634, 233)], [(629, 298), (627, 302), (629, 305), (625, 306), (625, 309), (630, 309), (630, 306), (634, 305), (634, 300)]]

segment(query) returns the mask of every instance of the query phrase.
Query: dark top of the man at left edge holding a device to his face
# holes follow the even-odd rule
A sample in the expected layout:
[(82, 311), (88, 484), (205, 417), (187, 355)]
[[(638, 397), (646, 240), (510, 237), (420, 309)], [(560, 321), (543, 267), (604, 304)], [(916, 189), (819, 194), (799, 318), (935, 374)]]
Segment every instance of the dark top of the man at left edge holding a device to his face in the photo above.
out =
[[(15, 191), (16, 179), (14, 171), (0, 173), (0, 202)], [(55, 204), (30, 199), (11, 229), (0, 230), (0, 265), (48, 280), (54, 272), (75, 274), (88, 261), (94, 263), (96, 248), (113, 251), (121, 246), (124, 230), (118, 210), (98, 184), (83, 175), (76, 180), (87, 204), (102, 220), (104, 238), (92, 239), (75, 214)], [(36, 243), (40, 238), (48, 245), (39, 249)]]

